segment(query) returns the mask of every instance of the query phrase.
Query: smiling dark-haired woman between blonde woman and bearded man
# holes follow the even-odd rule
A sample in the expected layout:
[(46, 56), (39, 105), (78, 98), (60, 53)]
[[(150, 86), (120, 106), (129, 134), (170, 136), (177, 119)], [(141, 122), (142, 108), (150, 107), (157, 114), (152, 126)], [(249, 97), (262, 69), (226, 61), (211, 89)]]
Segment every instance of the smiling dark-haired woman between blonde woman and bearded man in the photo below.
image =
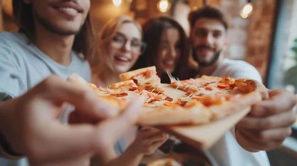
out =
[(147, 49), (132, 70), (156, 66), (163, 83), (170, 83), (166, 71), (180, 80), (195, 76), (190, 70), (188, 38), (177, 21), (168, 17), (148, 20), (143, 25), (143, 40)]

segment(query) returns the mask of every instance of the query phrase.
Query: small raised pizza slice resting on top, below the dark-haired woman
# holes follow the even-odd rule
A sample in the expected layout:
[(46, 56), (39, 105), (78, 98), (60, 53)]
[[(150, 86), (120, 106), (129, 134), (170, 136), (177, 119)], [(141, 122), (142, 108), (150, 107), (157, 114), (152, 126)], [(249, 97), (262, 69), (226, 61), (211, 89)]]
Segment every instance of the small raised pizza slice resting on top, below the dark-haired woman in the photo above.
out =
[(129, 71), (120, 75), (123, 81), (133, 80), (135, 84), (145, 88), (147, 91), (155, 93), (164, 93), (161, 86), (161, 79), (156, 75), (156, 67), (140, 68), (135, 71)]

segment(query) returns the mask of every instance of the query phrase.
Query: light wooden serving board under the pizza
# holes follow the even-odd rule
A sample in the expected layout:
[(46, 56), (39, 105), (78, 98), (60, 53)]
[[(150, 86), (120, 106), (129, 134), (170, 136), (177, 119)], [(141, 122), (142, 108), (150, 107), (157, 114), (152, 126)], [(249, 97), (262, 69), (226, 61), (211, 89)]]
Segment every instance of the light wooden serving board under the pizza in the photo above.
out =
[[(179, 98), (185, 94), (184, 91), (173, 89), (168, 84), (163, 84), (163, 89), (165, 89), (165, 94), (172, 98)], [(226, 131), (230, 130), (237, 122), (244, 118), (250, 110), (251, 107), (247, 107), (246, 109), (237, 111), (222, 120), (217, 120), (203, 125), (162, 126), (157, 128), (176, 136), (192, 147), (209, 149), (215, 144), (215, 142), (224, 136)]]

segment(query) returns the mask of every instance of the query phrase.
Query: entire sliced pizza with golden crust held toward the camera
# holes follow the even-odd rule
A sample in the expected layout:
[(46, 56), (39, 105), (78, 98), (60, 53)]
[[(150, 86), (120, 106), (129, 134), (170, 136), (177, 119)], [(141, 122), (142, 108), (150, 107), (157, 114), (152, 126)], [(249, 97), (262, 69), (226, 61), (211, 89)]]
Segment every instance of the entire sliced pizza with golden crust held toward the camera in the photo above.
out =
[[(78, 75), (74, 75), (75, 79), (71, 75), (68, 81), (80, 82), (84, 88), (91, 89), (98, 98), (118, 110), (118, 114), (135, 98), (143, 98), (137, 124), (148, 126), (206, 124), (268, 98), (265, 86), (255, 80), (206, 75), (177, 80), (168, 75), (171, 84), (161, 84), (152, 66), (123, 73), (119, 75), (122, 82), (107, 88), (88, 83)], [(174, 91), (179, 95), (172, 95)]]

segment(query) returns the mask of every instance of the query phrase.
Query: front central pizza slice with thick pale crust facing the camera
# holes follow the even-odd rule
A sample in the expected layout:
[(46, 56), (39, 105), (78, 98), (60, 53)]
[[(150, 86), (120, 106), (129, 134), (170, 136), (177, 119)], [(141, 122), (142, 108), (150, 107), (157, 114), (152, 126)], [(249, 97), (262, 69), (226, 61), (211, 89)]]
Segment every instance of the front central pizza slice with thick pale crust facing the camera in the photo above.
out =
[(209, 122), (211, 115), (206, 109), (201, 109), (201, 104), (193, 100), (183, 104), (176, 102), (168, 95), (152, 93), (133, 84), (132, 80), (111, 84), (110, 89), (133, 91), (144, 99), (143, 110), (138, 117), (137, 124), (203, 124)]

